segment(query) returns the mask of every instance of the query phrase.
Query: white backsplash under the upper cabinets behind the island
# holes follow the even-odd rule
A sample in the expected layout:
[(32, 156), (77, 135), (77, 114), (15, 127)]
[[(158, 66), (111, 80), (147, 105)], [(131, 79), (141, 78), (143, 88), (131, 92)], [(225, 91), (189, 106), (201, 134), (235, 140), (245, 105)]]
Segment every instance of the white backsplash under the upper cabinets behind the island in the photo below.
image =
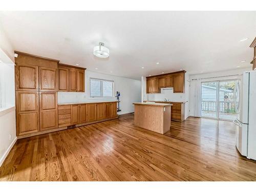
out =
[(161, 93), (146, 94), (148, 101), (185, 101), (185, 93), (174, 93), (173, 89), (161, 89)]

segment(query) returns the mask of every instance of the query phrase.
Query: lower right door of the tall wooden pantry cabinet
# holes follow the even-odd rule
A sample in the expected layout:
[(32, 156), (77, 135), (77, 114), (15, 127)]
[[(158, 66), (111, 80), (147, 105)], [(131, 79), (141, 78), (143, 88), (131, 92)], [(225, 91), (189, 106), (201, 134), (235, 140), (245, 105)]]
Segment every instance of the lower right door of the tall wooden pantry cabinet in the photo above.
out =
[(57, 92), (40, 92), (40, 131), (58, 127)]

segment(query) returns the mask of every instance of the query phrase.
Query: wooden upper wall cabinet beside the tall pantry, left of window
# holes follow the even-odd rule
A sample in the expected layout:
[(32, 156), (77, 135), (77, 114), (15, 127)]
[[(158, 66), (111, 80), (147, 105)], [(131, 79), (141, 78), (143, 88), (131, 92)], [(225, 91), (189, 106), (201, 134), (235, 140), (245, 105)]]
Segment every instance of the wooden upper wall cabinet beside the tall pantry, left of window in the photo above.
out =
[(59, 91), (84, 92), (84, 70), (86, 69), (59, 64)]

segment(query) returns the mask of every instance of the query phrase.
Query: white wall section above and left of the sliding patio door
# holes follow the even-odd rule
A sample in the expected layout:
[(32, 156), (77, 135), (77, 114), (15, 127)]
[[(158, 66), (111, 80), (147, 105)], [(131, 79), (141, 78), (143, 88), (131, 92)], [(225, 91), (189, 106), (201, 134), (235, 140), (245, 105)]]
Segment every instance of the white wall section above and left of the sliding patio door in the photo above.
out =
[[(212, 81), (212, 80), (229, 80), (235, 78), (242, 78), (242, 74), (244, 71), (250, 71), (251, 68), (242, 68), (242, 69), (234, 69), (234, 70), (227, 70), (227, 71), (220, 71), (220, 72), (213, 72), (213, 73), (202, 73), (202, 74), (195, 74), (190, 75), (190, 93), (189, 93), (189, 116), (195, 116), (195, 106), (196, 106), (196, 80), (198, 78), (207, 78), (202, 79), (201, 82), (204, 81)], [(229, 76), (232, 75), (232, 76)], [(220, 77), (220, 76), (227, 76), (227, 77)], [(218, 77), (218, 78), (215, 78)]]

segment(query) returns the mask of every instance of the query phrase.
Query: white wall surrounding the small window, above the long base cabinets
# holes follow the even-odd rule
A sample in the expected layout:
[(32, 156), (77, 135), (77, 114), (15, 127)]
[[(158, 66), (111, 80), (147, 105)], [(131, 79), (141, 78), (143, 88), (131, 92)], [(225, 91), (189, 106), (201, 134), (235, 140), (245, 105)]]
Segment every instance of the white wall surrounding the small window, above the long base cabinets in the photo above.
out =
[(141, 100), (141, 81), (118, 77), (114, 75), (96, 73), (86, 70), (86, 92), (58, 92), (58, 103), (66, 102), (93, 102), (93, 101), (110, 101), (116, 100), (116, 97), (109, 98), (90, 98), (90, 78), (98, 78), (114, 81), (114, 90), (120, 92), (120, 109), (119, 115), (134, 112), (133, 102), (140, 102)]

